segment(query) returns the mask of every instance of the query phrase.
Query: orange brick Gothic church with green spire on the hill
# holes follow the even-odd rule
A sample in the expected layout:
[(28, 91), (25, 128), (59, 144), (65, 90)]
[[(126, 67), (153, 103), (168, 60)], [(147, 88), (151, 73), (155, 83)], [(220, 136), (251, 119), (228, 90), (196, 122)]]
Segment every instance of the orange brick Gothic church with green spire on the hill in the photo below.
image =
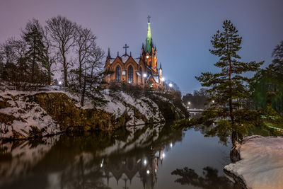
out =
[[(148, 17), (150, 18), (150, 16)], [(117, 84), (127, 83), (141, 88), (153, 88), (155, 90), (163, 89), (163, 77), (161, 64), (158, 68), (156, 57), (156, 46), (151, 38), (150, 21), (147, 23), (146, 44), (142, 43), (141, 55), (138, 58), (132, 57), (132, 53), (127, 54), (127, 44), (125, 54), (121, 57), (119, 52), (117, 57), (108, 56), (105, 62), (105, 70), (111, 71), (112, 74), (105, 76), (108, 84), (115, 82)]]

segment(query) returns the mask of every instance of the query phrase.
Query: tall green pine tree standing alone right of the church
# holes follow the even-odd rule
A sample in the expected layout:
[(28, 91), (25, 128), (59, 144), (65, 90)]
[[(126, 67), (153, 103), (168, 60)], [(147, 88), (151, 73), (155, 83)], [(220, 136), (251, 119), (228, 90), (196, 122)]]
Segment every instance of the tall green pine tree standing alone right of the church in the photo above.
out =
[[(202, 118), (212, 122), (219, 119), (216, 127), (207, 132), (210, 135), (227, 136), (231, 133), (233, 146), (236, 145), (239, 134), (246, 132), (246, 121), (240, 99), (249, 98), (248, 83), (252, 80), (243, 73), (258, 71), (263, 62), (240, 62), (241, 57), (237, 54), (241, 50), (242, 38), (231, 21), (224, 21), (223, 30), (217, 30), (212, 37), (213, 49), (209, 50), (212, 55), (219, 57), (219, 62), (214, 64), (221, 71), (216, 74), (210, 72), (196, 76), (202, 86), (208, 87), (209, 101), (213, 102), (211, 108), (204, 111)], [(227, 119), (229, 118), (229, 119)]]

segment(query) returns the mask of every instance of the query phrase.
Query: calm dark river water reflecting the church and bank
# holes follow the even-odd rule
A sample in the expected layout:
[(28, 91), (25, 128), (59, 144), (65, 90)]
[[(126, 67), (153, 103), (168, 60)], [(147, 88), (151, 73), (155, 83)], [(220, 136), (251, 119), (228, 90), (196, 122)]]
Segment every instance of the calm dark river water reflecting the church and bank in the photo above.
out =
[(0, 188), (238, 188), (231, 144), (169, 125), (0, 145)]

